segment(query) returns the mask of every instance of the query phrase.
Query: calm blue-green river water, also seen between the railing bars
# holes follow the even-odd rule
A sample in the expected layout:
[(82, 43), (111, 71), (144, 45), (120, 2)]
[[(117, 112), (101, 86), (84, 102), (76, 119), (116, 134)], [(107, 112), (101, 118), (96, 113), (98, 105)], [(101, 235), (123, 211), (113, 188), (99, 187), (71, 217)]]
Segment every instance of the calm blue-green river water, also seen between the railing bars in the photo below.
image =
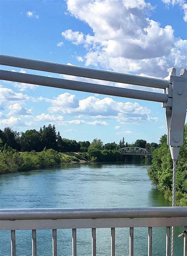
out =
[[(0, 176), (0, 208), (153, 207), (170, 202), (153, 186), (148, 166), (64, 164)], [(176, 235), (183, 228), (176, 228)], [(71, 230), (58, 230), (58, 255), (71, 255)], [(135, 228), (135, 256), (148, 255), (148, 228)], [(17, 256), (32, 255), (31, 231), (16, 231)], [(176, 237), (176, 256), (183, 239)], [(10, 232), (0, 232), (0, 256), (10, 255)], [(37, 231), (37, 255), (52, 255), (51, 230)], [(91, 230), (77, 230), (77, 255), (91, 255)], [(110, 255), (110, 229), (97, 229), (97, 255)], [(129, 229), (116, 228), (116, 256), (129, 255)], [(165, 255), (165, 228), (153, 228), (153, 255)]]

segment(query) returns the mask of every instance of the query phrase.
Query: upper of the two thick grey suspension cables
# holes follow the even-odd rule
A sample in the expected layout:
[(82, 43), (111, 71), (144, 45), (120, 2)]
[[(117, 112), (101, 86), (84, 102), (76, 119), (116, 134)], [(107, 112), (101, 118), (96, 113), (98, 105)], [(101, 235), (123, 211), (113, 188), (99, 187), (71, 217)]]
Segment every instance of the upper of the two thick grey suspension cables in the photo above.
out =
[(0, 64), (19, 68), (28, 68), (45, 72), (59, 73), (64, 75), (73, 75), (78, 77), (88, 77), (117, 83), (130, 85), (140, 85), (153, 88), (167, 88), (169, 81), (152, 77), (143, 77), (139, 75), (129, 75), (106, 70), (94, 70), (92, 68), (82, 68), (42, 60), (33, 60), (9, 55), (0, 55)]

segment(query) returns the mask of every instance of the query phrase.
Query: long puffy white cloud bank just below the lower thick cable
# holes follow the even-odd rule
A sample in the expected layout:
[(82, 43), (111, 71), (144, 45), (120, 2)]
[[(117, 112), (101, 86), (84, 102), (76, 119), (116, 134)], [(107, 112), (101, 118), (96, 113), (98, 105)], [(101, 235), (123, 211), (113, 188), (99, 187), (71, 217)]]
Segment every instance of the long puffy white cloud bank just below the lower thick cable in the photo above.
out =
[(116, 119), (122, 123), (158, 120), (157, 117), (150, 117), (150, 109), (137, 102), (116, 102), (108, 97), (100, 100), (95, 96), (89, 96), (78, 100), (75, 95), (65, 93), (47, 101), (52, 103), (48, 108), (50, 113), (85, 115), (94, 119)]

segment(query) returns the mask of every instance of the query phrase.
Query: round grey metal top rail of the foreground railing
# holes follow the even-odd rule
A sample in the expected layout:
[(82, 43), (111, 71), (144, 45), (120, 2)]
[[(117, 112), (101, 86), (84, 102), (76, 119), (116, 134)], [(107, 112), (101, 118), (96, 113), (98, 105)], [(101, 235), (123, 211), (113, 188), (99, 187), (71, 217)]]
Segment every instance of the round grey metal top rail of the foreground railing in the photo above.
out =
[(187, 207), (0, 209), (0, 220), (187, 217)]

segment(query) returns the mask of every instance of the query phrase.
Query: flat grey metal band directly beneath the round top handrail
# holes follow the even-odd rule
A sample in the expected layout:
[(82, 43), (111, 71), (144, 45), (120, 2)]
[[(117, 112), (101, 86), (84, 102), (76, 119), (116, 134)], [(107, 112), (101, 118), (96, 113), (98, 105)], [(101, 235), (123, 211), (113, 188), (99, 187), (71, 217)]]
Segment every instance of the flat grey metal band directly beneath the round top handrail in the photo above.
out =
[(1, 220), (0, 230), (185, 226), (187, 217)]

